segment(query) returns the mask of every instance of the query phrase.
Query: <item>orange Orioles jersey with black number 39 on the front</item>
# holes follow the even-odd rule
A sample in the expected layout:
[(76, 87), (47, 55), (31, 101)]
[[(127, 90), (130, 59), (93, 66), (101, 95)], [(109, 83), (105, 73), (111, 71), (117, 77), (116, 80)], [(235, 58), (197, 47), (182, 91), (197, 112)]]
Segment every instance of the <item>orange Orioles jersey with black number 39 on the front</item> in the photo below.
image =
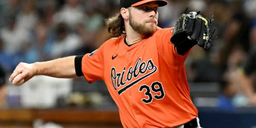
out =
[(189, 52), (176, 54), (172, 30), (158, 28), (131, 46), (112, 38), (82, 59), (85, 79), (105, 82), (124, 128), (169, 128), (198, 116), (186, 80)]

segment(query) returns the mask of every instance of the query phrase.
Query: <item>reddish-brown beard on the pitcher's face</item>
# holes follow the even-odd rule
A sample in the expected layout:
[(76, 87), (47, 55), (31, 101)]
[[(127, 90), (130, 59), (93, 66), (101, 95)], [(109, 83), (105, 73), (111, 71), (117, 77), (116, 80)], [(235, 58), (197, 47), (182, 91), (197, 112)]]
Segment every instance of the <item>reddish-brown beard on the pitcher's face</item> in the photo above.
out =
[[(156, 23), (152, 24), (150, 22), (156, 22)], [(148, 20), (144, 21), (143, 24), (140, 24), (140, 23), (136, 22), (131, 15), (129, 15), (129, 23), (130, 23), (131, 28), (134, 31), (136, 31), (142, 35), (145, 35), (146, 37), (149, 37), (150, 35), (152, 35), (156, 31), (156, 27), (157, 27), (157, 20), (154, 18), (148, 19)]]

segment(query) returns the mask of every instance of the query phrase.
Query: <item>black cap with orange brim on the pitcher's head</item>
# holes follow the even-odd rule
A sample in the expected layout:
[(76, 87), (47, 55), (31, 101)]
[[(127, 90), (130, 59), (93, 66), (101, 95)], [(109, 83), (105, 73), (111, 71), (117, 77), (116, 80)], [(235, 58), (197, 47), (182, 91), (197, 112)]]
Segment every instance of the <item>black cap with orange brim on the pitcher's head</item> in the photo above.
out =
[(138, 6), (151, 1), (156, 1), (159, 7), (165, 6), (168, 4), (166, 0), (120, 0), (120, 9), (128, 8), (130, 6)]

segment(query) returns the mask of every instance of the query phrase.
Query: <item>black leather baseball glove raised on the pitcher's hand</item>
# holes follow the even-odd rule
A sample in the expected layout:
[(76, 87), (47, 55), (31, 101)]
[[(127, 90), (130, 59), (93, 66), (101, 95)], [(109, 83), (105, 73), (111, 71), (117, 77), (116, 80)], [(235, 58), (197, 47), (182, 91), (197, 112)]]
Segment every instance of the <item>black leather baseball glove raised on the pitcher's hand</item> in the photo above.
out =
[[(194, 46), (195, 44), (198, 44), (204, 49), (210, 48), (211, 40), (215, 39), (212, 38), (215, 30), (210, 32), (213, 17), (209, 20), (199, 15), (199, 13), (200, 11), (182, 14), (181, 17), (177, 20), (171, 38), (171, 42), (174, 44), (175, 47), (179, 47), (179, 49), (182, 49), (180, 47), (184, 47), (184, 44), (182, 43), (184, 43), (184, 41), (188, 41), (187, 38), (190, 38), (190, 43), (192, 43), (193, 45), (188, 45)], [(180, 53), (184, 54), (184, 52)]]

